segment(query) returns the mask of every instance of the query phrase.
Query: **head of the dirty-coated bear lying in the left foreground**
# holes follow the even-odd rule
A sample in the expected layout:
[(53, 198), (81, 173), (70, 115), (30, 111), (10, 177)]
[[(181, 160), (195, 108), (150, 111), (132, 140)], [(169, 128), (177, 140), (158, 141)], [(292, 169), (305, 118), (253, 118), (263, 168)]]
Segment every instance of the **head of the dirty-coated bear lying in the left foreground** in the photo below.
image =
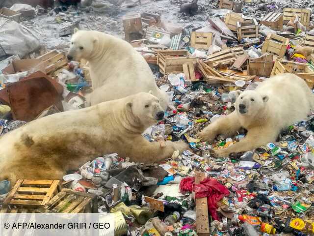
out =
[(126, 104), (127, 111), (131, 114), (134, 123), (150, 127), (164, 118), (164, 112), (159, 100), (152, 92), (140, 92), (132, 96)]

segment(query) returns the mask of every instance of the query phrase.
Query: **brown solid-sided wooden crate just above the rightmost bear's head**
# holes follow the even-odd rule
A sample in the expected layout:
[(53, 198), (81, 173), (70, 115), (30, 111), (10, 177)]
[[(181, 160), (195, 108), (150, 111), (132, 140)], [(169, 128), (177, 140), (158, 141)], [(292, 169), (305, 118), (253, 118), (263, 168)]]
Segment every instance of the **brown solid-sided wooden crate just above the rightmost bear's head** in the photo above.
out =
[(273, 66), (273, 55), (264, 54), (260, 58), (248, 60), (247, 73), (248, 75), (270, 77)]

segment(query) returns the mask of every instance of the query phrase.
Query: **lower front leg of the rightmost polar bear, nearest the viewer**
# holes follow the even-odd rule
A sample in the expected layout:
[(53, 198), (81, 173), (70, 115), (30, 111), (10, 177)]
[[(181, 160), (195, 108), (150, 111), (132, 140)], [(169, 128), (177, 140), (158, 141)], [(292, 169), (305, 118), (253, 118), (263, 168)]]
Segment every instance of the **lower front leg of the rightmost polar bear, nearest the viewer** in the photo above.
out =
[(227, 157), (234, 152), (249, 151), (276, 140), (278, 132), (268, 127), (255, 127), (248, 131), (246, 137), (228, 148), (218, 149), (215, 154)]

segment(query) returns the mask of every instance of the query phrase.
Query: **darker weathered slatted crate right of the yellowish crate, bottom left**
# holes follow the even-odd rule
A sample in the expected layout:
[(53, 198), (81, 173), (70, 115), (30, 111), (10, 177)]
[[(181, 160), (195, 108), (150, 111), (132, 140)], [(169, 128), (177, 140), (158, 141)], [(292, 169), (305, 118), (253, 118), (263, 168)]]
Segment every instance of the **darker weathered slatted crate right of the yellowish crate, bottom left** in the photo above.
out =
[(63, 188), (37, 213), (98, 213), (97, 195)]

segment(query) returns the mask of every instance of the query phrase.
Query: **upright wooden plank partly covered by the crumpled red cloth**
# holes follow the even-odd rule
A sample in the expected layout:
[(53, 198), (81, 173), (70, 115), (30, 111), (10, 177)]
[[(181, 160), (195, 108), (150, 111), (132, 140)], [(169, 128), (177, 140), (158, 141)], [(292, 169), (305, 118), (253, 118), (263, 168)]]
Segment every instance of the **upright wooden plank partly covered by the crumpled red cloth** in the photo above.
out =
[[(205, 173), (195, 173), (195, 183), (205, 179)], [(196, 202), (196, 232), (198, 236), (209, 236), (209, 216), (207, 198), (197, 198)]]

